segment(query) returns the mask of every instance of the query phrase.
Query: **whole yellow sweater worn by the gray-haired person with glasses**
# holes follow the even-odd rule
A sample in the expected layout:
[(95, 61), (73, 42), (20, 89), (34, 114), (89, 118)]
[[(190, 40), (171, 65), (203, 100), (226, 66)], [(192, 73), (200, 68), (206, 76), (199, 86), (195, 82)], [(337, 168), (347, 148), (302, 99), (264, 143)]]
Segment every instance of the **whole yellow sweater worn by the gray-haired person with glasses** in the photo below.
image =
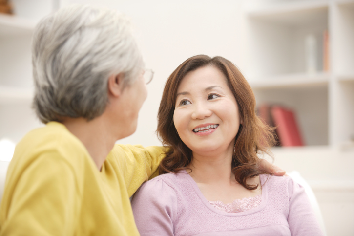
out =
[(115, 145), (101, 172), (60, 123), (29, 132), (10, 163), (0, 236), (135, 236), (129, 197), (153, 174), (164, 148)]

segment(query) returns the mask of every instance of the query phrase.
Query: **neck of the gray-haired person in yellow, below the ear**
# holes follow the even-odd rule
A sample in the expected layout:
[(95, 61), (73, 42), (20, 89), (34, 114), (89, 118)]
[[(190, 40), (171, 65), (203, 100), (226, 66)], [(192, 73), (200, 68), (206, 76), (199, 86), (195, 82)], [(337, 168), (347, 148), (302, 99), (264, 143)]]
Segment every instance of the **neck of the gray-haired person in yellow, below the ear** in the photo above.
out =
[(104, 160), (117, 141), (104, 116), (91, 121), (66, 117), (62, 124), (83, 143), (98, 170), (101, 170)]

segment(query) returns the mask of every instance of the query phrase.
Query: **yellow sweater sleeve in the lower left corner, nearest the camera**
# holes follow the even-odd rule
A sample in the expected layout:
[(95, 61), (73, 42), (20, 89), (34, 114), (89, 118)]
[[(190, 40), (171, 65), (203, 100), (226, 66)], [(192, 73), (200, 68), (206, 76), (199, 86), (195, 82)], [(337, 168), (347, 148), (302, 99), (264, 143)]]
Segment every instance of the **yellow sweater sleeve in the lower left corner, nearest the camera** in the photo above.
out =
[(1, 236), (73, 235), (80, 193), (70, 164), (56, 152), (45, 152), (17, 176), (8, 186), (11, 207), (1, 212)]

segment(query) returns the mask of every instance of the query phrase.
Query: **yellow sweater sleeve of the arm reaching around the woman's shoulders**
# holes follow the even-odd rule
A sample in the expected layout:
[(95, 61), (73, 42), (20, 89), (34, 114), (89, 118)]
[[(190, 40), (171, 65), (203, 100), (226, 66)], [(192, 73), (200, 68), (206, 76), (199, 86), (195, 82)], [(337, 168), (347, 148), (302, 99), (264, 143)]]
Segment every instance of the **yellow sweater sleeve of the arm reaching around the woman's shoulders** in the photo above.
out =
[(108, 155), (119, 163), (119, 170), (123, 172), (125, 186), (129, 197), (138, 190), (140, 185), (156, 176), (162, 158), (165, 157), (165, 147), (116, 144)]

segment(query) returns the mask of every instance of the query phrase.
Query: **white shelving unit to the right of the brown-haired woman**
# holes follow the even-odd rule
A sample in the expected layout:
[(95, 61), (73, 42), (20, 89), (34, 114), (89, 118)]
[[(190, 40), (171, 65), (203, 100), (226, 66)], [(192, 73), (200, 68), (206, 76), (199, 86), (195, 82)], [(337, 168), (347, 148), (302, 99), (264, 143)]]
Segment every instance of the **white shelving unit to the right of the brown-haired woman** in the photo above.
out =
[[(329, 236), (353, 235), (354, 0), (249, 0), (243, 27), (243, 69), (257, 105), (295, 110), (306, 145), (273, 148), (275, 164), (308, 180)], [(319, 62), (312, 73), (306, 66), (305, 39), (310, 34)]]

